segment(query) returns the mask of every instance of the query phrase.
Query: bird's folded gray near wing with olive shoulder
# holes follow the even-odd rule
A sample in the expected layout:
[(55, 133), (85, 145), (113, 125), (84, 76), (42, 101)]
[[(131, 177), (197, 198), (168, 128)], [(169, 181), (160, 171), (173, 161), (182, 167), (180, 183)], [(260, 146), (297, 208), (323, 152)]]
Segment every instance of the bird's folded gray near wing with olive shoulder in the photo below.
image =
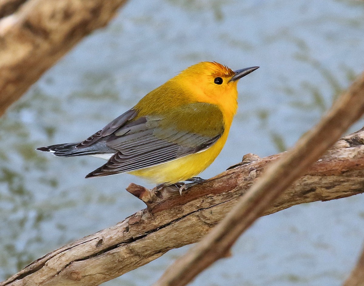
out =
[[(198, 113), (203, 113), (206, 106), (199, 109), (201, 111), (196, 111), (196, 105), (208, 105), (214, 112), (209, 113), (208, 117), (200, 116), (201, 114)], [(192, 116), (199, 120), (209, 121), (203, 122), (207, 129), (210, 122), (213, 122), (211, 132), (205, 130), (202, 135), (188, 130), (177, 130), (174, 124), (165, 124), (166, 118), (158, 116), (140, 117), (137, 120), (127, 122), (107, 137), (106, 145), (117, 152), (106, 164), (86, 177), (136, 171), (184, 157), (209, 148), (223, 133), (222, 114), (217, 106), (208, 103), (193, 103), (190, 108), (178, 110), (177, 114), (181, 120), (184, 117)], [(216, 122), (219, 122), (217, 127)]]

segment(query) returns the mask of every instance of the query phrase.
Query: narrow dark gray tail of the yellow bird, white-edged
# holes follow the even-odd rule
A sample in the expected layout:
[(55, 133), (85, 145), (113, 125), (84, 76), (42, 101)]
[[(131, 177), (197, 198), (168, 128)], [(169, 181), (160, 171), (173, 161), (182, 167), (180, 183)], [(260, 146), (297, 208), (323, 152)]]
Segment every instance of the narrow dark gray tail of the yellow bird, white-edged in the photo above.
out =
[(95, 150), (95, 148), (92, 146), (77, 148), (76, 146), (78, 144), (79, 143), (55, 144), (47, 147), (39, 147), (37, 148), (37, 150), (43, 152), (52, 152), (55, 156), (62, 156), (62, 157), (91, 155), (100, 153), (99, 150)]

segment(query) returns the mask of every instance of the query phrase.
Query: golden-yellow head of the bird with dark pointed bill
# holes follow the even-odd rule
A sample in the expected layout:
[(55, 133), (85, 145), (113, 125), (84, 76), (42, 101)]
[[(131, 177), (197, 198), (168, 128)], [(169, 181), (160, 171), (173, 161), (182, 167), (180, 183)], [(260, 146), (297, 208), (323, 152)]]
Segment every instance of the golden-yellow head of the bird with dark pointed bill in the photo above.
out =
[(189, 90), (196, 101), (218, 105), (233, 117), (237, 109), (237, 82), (257, 68), (234, 71), (217, 62), (201, 62), (186, 68), (171, 81)]

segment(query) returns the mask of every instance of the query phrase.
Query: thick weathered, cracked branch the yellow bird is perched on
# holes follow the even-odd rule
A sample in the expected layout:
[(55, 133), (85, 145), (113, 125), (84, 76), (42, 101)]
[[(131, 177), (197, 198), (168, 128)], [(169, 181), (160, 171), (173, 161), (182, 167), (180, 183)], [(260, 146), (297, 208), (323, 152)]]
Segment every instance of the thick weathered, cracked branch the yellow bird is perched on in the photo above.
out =
[[(145, 265), (172, 248), (197, 242), (221, 220), (281, 154), (245, 160), (179, 195), (130, 186), (147, 208), (116, 226), (67, 244), (0, 283), (5, 285), (99, 285)], [(364, 192), (364, 129), (344, 137), (264, 213), (292, 205)]]

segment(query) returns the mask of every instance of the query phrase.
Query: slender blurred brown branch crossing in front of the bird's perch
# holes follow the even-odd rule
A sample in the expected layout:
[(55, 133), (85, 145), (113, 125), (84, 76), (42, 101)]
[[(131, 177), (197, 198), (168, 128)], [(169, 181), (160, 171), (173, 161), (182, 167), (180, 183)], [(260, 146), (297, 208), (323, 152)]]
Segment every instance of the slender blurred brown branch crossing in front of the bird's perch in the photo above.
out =
[(266, 208), (298, 179), (364, 113), (364, 73), (325, 115), (242, 196), (201, 242), (177, 259), (154, 285), (183, 286), (219, 258)]

